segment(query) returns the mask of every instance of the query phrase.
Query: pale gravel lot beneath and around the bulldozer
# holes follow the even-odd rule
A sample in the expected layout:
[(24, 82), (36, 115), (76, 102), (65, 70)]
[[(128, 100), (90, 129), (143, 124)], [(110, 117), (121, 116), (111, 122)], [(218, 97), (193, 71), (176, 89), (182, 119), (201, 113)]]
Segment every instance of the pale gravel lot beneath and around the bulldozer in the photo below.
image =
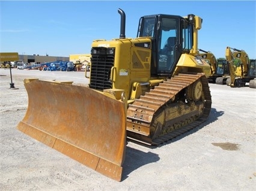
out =
[(157, 148), (128, 142), (121, 182), (16, 129), (28, 104), (23, 78), (88, 83), (84, 72), (0, 69), (1, 190), (256, 190), (256, 89), (210, 84), (207, 122)]

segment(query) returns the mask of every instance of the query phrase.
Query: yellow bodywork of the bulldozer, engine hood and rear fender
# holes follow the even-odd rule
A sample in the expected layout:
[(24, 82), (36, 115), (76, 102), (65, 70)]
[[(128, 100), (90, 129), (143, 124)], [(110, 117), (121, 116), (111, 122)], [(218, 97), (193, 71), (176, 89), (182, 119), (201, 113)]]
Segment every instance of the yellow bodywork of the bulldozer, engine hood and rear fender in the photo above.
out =
[[(144, 37), (112, 41), (95, 40), (92, 44), (92, 47), (113, 47), (116, 50), (115, 54), (120, 54), (120, 56), (115, 57), (115, 65), (111, 68), (109, 80), (112, 81), (113, 89), (124, 91), (128, 103), (135, 101), (141, 95), (145, 95), (145, 92), (148, 92), (151, 87), (166, 79), (166, 77), (151, 76), (151, 48), (136, 47), (135, 44), (150, 44), (151, 46), (151, 40)], [(172, 75), (180, 72), (204, 72), (208, 77), (210, 67), (204, 59), (197, 58), (192, 54), (181, 54)], [(141, 86), (139, 83), (147, 85)]]

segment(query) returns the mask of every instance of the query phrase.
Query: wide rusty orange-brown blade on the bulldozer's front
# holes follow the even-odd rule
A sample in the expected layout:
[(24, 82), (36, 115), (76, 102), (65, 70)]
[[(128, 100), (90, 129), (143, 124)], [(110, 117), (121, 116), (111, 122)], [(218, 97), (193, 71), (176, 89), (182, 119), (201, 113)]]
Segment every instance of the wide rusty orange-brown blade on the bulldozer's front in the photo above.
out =
[(28, 110), (17, 129), (121, 181), (126, 148), (123, 102), (67, 82), (25, 79), (24, 85)]

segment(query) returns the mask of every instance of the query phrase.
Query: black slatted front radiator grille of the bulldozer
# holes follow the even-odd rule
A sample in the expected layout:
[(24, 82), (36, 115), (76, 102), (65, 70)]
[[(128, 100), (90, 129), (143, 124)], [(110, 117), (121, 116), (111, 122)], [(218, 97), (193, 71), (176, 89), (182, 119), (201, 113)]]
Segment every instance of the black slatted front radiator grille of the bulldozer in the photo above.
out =
[(114, 55), (92, 54), (89, 87), (101, 91), (111, 89), (110, 74), (112, 66), (114, 66)]

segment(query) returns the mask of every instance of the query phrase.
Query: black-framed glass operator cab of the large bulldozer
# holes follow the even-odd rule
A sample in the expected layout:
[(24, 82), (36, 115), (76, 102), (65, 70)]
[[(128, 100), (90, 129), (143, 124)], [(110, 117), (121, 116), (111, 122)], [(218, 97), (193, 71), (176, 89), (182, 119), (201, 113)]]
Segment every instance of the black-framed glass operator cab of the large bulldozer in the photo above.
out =
[(137, 37), (151, 37), (151, 74), (171, 75), (181, 53), (189, 53), (192, 48), (192, 34), (192, 23), (183, 17), (166, 14), (141, 17)]

